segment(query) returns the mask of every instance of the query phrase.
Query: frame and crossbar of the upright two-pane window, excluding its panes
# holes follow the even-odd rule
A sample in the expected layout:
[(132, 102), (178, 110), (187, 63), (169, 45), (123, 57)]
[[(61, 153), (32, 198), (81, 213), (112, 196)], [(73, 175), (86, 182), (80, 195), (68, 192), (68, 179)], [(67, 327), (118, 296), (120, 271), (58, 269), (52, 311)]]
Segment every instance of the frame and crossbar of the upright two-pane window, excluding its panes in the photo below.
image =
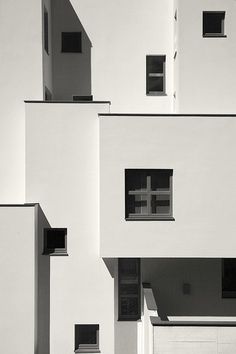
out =
[[(163, 72), (150, 72), (148, 58), (163, 58)], [(162, 77), (163, 78), (163, 90), (162, 91), (150, 91), (149, 90), (149, 79), (152, 77)], [(146, 55), (146, 96), (166, 96), (166, 55)]]

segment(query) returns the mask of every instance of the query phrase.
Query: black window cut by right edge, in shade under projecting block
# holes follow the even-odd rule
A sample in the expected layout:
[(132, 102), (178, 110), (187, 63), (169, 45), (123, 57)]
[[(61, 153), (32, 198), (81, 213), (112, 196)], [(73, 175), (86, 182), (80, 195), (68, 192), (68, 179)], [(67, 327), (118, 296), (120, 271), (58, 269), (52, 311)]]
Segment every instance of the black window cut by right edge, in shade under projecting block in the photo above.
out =
[(222, 260), (222, 297), (236, 298), (236, 258)]

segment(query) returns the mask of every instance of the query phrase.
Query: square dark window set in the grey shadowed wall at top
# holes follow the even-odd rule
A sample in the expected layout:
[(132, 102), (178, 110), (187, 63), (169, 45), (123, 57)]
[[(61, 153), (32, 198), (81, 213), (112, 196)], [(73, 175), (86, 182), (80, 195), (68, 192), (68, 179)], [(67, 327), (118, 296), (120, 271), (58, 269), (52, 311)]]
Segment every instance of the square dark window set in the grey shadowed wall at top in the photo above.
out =
[(61, 51), (62, 53), (81, 53), (82, 52), (81, 32), (62, 32)]

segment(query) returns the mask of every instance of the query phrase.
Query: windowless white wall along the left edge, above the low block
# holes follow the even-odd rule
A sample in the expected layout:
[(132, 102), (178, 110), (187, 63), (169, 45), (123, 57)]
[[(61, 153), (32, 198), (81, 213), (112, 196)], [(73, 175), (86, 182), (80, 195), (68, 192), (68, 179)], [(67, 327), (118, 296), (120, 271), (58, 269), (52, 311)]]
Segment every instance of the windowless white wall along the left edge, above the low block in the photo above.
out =
[(24, 103), (42, 98), (41, 1), (0, 3), (0, 202), (24, 202)]

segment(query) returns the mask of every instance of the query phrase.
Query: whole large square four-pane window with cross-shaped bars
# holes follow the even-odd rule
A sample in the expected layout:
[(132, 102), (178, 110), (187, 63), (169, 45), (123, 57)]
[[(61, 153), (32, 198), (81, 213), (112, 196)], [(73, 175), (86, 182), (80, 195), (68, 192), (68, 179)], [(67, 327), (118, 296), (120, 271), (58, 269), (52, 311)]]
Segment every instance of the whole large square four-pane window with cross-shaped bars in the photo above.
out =
[(172, 177), (172, 169), (126, 169), (126, 220), (175, 220)]

